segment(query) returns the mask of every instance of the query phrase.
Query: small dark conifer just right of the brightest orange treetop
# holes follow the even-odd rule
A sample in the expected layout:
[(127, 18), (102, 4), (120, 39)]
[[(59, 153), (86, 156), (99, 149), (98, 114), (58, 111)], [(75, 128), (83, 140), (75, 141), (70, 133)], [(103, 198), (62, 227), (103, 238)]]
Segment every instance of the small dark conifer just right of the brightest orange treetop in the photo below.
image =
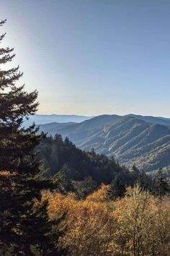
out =
[(107, 200), (116, 200), (118, 197), (123, 197), (125, 195), (125, 184), (120, 182), (120, 179), (115, 176), (112, 180), (109, 188), (107, 189)]

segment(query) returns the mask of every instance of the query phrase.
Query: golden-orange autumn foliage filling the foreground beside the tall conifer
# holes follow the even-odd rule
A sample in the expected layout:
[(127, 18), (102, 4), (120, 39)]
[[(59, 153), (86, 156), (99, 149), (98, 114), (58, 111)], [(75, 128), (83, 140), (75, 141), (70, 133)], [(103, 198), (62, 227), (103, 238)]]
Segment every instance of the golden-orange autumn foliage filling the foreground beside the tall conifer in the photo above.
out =
[(105, 199), (108, 186), (76, 200), (73, 194), (43, 192), (51, 219), (66, 213), (66, 234), (60, 239), (68, 255), (168, 256), (170, 253), (169, 199), (158, 200), (140, 187), (125, 197)]

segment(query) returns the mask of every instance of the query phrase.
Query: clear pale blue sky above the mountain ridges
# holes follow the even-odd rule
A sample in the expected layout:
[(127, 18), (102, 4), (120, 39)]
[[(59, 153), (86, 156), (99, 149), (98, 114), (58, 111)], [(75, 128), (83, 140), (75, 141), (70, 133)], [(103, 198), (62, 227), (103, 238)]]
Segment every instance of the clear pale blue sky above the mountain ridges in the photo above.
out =
[(170, 117), (169, 0), (0, 0), (39, 114)]

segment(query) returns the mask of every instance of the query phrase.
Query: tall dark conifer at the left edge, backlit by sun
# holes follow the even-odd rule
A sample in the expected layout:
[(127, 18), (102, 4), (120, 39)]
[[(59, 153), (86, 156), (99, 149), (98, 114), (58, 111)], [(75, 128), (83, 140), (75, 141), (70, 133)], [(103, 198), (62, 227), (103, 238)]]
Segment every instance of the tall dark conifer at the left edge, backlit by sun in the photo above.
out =
[[(0, 48), (0, 67), (14, 59), (13, 50)], [(0, 254), (7, 248), (12, 255), (29, 256), (31, 246), (41, 244), (35, 227), (47, 222), (33, 210), (34, 200), (51, 183), (40, 178), (35, 152), (44, 135), (36, 135), (35, 124), (22, 127), (23, 119), (37, 110), (37, 91), (27, 93), (24, 85), (17, 86), (20, 77), (19, 67), (0, 69)]]

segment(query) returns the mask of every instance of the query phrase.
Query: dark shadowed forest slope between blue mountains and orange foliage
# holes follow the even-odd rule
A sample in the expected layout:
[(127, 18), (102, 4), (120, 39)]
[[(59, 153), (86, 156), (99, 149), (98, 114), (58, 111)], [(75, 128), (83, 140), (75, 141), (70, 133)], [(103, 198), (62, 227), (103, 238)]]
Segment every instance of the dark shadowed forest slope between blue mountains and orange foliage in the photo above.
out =
[[(93, 149), (86, 152), (76, 148), (68, 137), (63, 140), (61, 135), (45, 137), (37, 146), (37, 150), (38, 160), (45, 176), (51, 177), (55, 182), (67, 180), (68, 184), (72, 184), (72, 190), (88, 183), (91, 192), (101, 184), (110, 184), (118, 179), (125, 187), (140, 184), (141, 187), (152, 192), (158, 179), (162, 177), (166, 180), (164, 171), (160, 170), (151, 176), (140, 171), (135, 165), (129, 170), (125, 166), (120, 166), (113, 157), (97, 154)], [(65, 190), (68, 192), (67, 189)]]

